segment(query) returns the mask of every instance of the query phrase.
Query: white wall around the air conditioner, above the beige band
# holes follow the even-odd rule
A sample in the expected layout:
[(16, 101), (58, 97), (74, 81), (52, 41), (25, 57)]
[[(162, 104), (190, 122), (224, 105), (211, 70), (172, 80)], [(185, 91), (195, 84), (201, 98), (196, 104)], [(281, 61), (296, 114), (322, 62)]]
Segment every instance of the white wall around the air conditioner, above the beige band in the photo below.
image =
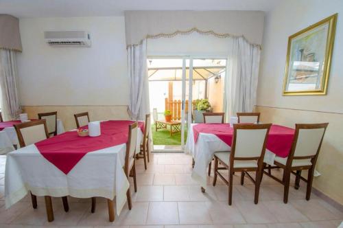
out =
[[(47, 30), (85, 30), (92, 46), (50, 47)], [(23, 106), (127, 105), (123, 16), (20, 19)]]

